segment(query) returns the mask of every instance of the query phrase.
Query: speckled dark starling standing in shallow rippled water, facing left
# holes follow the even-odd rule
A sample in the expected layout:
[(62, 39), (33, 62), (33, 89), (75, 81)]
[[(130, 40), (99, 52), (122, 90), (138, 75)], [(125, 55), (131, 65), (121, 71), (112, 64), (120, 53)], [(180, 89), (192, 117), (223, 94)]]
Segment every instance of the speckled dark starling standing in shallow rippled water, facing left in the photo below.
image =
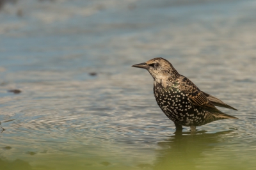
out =
[(177, 131), (186, 126), (191, 128), (191, 132), (196, 132), (197, 126), (212, 121), (237, 119), (221, 112), (216, 106), (236, 111), (237, 109), (201, 91), (164, 58), (153, 58), (132, 67), (144, 68), (152, 75), (156, 102), (164, 114), (173, 121)]

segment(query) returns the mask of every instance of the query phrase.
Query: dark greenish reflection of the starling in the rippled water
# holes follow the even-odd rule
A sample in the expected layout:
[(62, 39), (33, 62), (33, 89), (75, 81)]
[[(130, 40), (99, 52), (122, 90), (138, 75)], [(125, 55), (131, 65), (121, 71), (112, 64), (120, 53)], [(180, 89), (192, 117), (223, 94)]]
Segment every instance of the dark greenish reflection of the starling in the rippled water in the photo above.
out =
[(191, 132), (175, 132), (170, 139), (160, 142), (162, 150), (158, 150), (158, 158), (154, 169), (198, 169), (200, 158), (207, 150), (214, 150), (218, 143), (221, 143), (223, 135), (233, 130), (207, 134), (207, 131), (198, 131), (191, 135)]

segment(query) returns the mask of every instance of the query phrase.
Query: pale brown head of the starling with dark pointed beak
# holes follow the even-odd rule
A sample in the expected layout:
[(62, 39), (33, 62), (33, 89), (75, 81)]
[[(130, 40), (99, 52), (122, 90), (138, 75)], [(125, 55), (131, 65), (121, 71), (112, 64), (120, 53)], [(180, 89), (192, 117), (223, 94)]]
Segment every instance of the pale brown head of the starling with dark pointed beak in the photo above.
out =
[(152, 75), (154, 81), (157, 82), (179, 75), (172, 64), (164, 58), (153, 58), (146, 63), (132, 65), (132, 67), (145, 68)]

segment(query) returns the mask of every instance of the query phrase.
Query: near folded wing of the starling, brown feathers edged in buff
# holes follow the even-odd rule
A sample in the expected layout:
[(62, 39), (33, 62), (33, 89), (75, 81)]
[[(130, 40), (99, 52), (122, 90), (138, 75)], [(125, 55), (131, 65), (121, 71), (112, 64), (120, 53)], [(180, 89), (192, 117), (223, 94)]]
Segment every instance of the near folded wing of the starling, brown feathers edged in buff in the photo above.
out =
[(194, 105), (199, 105), (208, 111), (219, 111), (214, 104), (205, 96), (204, 92), (200, 91), (193, 82), (188, 78), (182, 76), (180, 77), (180, 90), (188, 96), (189, 101)]

